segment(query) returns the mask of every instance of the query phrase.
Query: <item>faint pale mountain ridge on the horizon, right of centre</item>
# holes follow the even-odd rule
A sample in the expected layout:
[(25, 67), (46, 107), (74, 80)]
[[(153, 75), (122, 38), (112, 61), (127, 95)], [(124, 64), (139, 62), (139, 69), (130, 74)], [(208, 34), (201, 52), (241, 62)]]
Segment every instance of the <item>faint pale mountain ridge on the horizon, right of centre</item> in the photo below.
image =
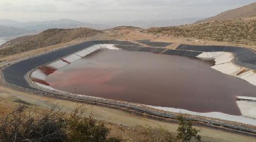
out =
[(192, 24), (198, 20), (202, 20), (202, 17), (192, 17), (192, 18), (183, 18), (183, 19), (171, 19), (171, 20), (135, 20), (135, 21), (116, 21), (110, 22), (111, 25), (127, 25), (127, 26), (136, 26), (140, 28), (150, 28), (150, 27), (161, 27), (161, 26), (174, 26), (182, 24)]

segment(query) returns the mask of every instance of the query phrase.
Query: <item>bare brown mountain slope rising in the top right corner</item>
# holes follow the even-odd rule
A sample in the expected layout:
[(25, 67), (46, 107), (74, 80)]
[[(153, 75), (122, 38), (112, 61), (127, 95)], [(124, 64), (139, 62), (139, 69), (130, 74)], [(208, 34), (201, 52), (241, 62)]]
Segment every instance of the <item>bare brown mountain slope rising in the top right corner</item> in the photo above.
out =
[(234, 18), (239, 19), (239, 18), (252, 17), (252, 16), (256, 16), (256, 3), (239, 7), (234, 10), (222, 12), (216, 16), (207, 18), (205, 20), (197, 21), (196, 23), (213, 22), (216, 20), (217, 21), (231, 20)]

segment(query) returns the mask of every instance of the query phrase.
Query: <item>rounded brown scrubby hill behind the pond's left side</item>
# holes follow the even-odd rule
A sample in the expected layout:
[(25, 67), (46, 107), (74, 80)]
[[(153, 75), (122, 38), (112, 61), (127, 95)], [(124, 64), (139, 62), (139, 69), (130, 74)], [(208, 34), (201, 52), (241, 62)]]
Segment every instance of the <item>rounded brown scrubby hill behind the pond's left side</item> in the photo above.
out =
[(0, 55), (12, 55), (37, 48), (57, 45), (59, 43), (69, 42), (74, 39), (83, 39), (95, 36), (101, 31), (78, 28), (78, 29), (49, 29), (34, 36), (25, 36), (10, 40), (1, 46)]

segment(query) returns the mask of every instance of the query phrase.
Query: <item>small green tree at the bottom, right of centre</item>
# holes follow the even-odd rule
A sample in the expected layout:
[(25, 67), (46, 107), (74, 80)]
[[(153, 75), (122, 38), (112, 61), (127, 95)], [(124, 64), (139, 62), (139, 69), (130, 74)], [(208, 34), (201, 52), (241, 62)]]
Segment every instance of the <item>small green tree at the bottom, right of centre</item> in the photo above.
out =
[(179, 127), (177, 129), (177, 140), (181, 140), (183, 142), (189, 141), (192, 138), (196, 138), (197, 140), (201, 140), (201, 136), (198, 135), (198, 132), (200, 132), (199, 129), (192, 127), (192, 121), (187, 121), (182, 115), (179, 115), (177, 117)]

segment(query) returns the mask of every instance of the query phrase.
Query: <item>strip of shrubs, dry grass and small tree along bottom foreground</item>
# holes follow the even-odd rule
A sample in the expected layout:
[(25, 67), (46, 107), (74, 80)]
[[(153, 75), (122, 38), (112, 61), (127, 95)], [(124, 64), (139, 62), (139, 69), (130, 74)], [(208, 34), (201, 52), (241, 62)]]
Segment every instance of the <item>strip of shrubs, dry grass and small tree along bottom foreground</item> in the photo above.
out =
[(170, 142), (200, 138), (198, 130), (192, 128), (191, 122), (182, 116), (178, 118), (180, 127), (175, 138), (173, 132), (163, 128), (155, 129), (146, 125), (130, 129), (97, 121), (92, 113), (89, 117), (83, 117), (84, 109), (77, 106), (72, 113), (66, 113), (53, 106), (51, 110), (38, 111), (38, 108), (23, 103), (13, 111), (3, 111), (5, 113), (0, 117), (0, 141)]

